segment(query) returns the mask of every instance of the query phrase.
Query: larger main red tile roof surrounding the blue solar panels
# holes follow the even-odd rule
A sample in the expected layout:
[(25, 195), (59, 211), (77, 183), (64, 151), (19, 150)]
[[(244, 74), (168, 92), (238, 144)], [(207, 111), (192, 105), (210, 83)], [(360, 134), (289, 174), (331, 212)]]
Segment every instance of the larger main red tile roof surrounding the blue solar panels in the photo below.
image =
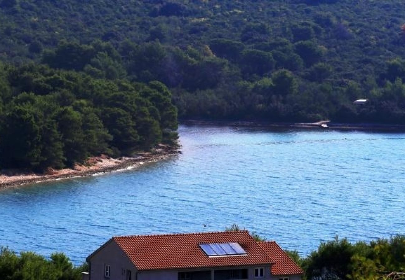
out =
[[(114, 237), (140, 270), (266, 265), (273, 263), (247, 231)], [(199, 244), (237, 242), (247, 255), (208, 257)]]

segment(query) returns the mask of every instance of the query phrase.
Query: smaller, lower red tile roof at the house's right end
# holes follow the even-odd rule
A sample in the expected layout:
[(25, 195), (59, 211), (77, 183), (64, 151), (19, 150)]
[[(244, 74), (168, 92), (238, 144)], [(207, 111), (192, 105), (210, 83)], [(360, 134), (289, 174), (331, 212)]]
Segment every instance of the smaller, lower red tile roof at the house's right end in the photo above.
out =
[(278, 246), (274, 241), (258, 242), (260, 247), (275, 264), (271, 266), (271, 274), (273, 275), (298, 275), (304, 274), (304, 271)]

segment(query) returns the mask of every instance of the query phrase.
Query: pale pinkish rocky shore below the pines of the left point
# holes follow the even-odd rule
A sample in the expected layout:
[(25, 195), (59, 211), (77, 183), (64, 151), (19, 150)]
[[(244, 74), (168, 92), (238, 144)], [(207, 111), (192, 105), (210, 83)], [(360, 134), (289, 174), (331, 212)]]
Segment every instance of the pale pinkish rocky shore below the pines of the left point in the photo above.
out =
[(74, 168), (48, 170), (45, 173), (34, 173), (25, 170), (2, 170), (0, 172), (0, 191), (12, 187), (31, 185), (40, 182), (51, 182), (75, 177), (93, 176), (126, 169), (139, 168), (141, 165), (167, 159), (179, 154), (176, 147), (159, 145), (151, 152), (138, 153), (133, 157), (110, 158), (105, 155), (91, 157), (85, 165), (76, 164)]

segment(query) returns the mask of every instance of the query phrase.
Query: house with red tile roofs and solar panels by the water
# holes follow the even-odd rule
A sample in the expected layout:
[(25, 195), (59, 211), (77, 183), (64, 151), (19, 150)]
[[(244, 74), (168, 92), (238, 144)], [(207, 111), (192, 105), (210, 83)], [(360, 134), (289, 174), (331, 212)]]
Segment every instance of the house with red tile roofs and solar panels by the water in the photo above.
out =
[(113, 237), (87, 257), (89, 280), (301, 280), (275, 242), (248, 231)]

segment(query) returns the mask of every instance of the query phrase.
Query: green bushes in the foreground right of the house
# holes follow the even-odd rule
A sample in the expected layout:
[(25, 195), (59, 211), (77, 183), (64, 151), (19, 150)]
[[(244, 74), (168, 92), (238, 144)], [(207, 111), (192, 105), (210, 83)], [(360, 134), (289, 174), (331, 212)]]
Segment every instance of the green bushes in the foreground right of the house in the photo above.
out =
[(405, 236), (357, 242), (336, 238), (322, 242), (307, 258), (290, 256), (305, 270), (306, 279), (385, 280), (391, 272), (405, 272)]

